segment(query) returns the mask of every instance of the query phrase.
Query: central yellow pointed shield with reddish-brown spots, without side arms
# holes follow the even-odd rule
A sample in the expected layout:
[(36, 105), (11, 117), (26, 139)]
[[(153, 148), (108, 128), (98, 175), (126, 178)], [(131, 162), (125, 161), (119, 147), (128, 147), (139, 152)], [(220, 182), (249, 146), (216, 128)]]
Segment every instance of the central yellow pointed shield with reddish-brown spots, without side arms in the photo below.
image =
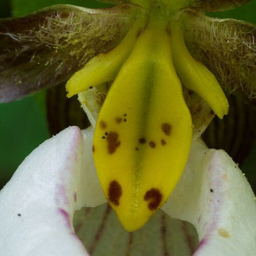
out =
[(191, 117), (169, 45), (165, 25), (143, 31), (96, 124), (98, 178), (128, 231), (142, 227), (167, 200), (190, 150)]

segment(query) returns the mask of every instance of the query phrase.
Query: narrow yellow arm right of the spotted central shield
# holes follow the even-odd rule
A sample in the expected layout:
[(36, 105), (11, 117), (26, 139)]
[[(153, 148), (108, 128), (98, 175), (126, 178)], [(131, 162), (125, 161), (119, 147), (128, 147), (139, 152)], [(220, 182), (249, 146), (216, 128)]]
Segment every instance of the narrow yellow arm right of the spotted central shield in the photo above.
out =
[(171, 33), (173, 61), (182, 83), (188, 89), (198, 93), (222, 119), (224, 115), (227, 115), (229, 105), (215, 75), (188, 52), (180, 20), (172, 20)]

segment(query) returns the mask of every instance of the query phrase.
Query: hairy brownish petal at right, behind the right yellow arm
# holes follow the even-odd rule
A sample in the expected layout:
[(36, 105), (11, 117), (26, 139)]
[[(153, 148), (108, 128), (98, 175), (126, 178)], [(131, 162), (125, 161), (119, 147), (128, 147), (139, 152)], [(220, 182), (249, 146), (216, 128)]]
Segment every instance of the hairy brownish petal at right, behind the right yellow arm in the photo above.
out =
[(189, 52), (216, 76), (222, 88), (255, 98), (255, 25), (210, 18), (195, 10), (184, 11), (182, 19)]

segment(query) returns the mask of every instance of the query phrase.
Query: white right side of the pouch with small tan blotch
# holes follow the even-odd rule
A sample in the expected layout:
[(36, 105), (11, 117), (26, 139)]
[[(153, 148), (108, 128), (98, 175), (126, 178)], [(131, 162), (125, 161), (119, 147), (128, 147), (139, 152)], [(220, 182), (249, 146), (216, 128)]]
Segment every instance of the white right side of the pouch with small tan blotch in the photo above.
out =
[(174, 193), (162, 209), (192, 223), (199, 234), (194, 255), (255, 255), (256, 204), (232, 159), (196, 141)]

